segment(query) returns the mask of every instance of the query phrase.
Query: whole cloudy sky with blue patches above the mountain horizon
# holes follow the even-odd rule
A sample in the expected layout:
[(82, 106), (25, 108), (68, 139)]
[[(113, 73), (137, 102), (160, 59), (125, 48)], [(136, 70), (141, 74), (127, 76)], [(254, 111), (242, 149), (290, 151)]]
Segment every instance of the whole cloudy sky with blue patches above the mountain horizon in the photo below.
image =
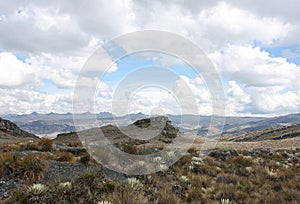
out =
[[(0, 0), (0, 114), (73, 112), (74, 87), (89, 57), (110, 40), (143, 30), (175, 33), (201, 48), (223, 84), (226, 115), (298, 113), (299, 7), (297, 0)], [(114, 62), (112, 55), (103, 59), (112, 63), (109, 70), (83, 79), (98, 85), (96, 104), (86, 111), (113, 111), (122, 80), (155, 65), (189, 86), (197, 113), (212, 114), (205, 81), (178, 59), (144, 53)], [(136, 89), (126, 111), (190, 113), (155, 85)]]

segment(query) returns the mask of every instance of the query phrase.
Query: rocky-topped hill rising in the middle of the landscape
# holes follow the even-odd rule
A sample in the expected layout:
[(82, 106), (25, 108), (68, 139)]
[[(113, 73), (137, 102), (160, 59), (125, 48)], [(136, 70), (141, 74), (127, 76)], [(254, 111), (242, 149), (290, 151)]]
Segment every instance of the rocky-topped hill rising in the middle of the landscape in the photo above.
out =
[[(154, 136), (151, 138), (147, 138), (149, 130), (150, 133), (154, 133)], [(62, 143), (80, 142), (78, 134), (80, 134), (81, 137), (84, 137), (84, 135), (91, 137), (91, 135), (93, 135), (95, 141), (97, 141), (99, 131), (101, 131), (112, 144), (122, 150), (124, 150), (125, 146), (128, 147), (128, 145), (134, 146), (134, 148), (137, 149), (139, 146), (143, 146), (144, 148), (148, 148), (148, 150), (162, 147), (164, 144), (171, 143), (179, 134), (179, 130), (171, 124), (171, 121), (167, 117), (158, 116), (137, 120), (128, 126), (116, 127), (106, 125), (100, 128), (83, 130), (78, 133), (63, 133), (59, 134), (55, 141)]]

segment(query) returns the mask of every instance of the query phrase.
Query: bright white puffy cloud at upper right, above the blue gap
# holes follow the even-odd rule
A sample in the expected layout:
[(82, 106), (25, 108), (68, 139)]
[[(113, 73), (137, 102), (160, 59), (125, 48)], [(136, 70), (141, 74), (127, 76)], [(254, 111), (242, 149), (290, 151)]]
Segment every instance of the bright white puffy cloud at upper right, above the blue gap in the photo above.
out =
[(219, 3), (217, 7), (201, 12), (199, 21), (207, 30), (207, 37), (214, 36), (215, 39), (212, 40), (217, 40), (220, 44), (252, 43), (254, 40), (271, 44), (285, 37), (292, 29), (292, 25), (276, 18), (260, 18), (226, 3)]

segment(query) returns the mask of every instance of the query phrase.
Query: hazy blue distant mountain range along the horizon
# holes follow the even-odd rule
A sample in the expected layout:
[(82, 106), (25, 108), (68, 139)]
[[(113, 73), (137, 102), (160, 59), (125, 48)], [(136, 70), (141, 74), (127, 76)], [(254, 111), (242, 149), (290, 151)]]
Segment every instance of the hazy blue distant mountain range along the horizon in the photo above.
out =
[[(201, 115), (166, 115), (174, 126), (182, 132), (190, 132), (205, 136), (210, 126), (211, 116)], [(125, 126), (136, 120), (147, 118), (143, 113), (115, 116), (109, 112), (82, 113), (76, 115), (76, 127), (80, 130), (104, 125)], [(219, 116), (217, 116), (219, 117)], [(20, 128), (39, 135), (55, 137), (59, 133), (74, 132), (73, 114), (39, 114), (4, 115), (3, 118), (13, 121)], [(223, 134), (242, 134), (255, 130), (300, 124), (300, 114), (291, 114), (278, 117), (225, 117)]]

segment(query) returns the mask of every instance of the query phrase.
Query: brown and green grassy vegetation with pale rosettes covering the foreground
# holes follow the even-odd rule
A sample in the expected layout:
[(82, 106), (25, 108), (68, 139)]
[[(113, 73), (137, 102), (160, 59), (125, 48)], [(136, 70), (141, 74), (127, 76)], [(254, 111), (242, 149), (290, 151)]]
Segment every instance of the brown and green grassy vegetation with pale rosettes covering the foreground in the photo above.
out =
[[(22, 181), (3, 203), (298, 203), (300, 151), (258, 149), (214, 150), (200, 158), (196, 149), (170, 168), (145, 176), (107, 178), (103, 169), (69, 181), (45, 183), (48, 162), (94, 163), (66, 144), (57, 150), (51, 141), (2, 147), (2, 179)], [(21, 151), (36, 150), (22, 155)]]

